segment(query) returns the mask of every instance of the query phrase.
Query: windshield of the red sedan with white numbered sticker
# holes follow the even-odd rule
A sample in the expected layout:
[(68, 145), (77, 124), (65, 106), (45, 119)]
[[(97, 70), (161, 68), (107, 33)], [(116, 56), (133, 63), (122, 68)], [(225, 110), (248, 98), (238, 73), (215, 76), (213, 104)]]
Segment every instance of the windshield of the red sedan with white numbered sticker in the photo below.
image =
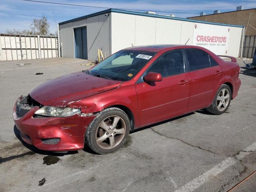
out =
[(128, 81), (155, 55), (155, 52), (121, 50), (88, 70), (90, 75)]

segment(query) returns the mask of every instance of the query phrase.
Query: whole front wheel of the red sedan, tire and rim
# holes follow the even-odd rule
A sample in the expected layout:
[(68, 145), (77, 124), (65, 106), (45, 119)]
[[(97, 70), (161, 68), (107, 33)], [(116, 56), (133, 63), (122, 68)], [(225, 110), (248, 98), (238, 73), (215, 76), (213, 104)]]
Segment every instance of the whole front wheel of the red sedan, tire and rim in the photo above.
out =
[(127, 114), (119, 108), (107, 108), (87, 127), (85, 143), (98, 154), (108, 154), (124, 145), (129, 132)]

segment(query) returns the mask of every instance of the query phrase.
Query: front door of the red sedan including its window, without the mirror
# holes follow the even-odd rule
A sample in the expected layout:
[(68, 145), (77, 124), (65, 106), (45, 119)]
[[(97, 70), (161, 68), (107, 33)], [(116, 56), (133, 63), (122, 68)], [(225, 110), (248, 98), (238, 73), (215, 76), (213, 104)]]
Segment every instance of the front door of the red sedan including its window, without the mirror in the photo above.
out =
[(160, 73), (162, 81), (148, 83), (142, 77), (135, 84), (140, 126), (178, 116), (188, 107), (190, 84), (182, 50), (164, 53), (144, 75), (149, 72)]

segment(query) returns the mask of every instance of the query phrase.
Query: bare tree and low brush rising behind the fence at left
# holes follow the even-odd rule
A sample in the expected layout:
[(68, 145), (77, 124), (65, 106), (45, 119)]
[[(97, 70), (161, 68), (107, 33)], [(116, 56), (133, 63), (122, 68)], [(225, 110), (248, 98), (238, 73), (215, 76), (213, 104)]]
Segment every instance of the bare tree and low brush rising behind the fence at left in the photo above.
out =
[[(41, 19), (34, 18), (30, 29), (7, 29), (6, 33), (8, 34), (28, 34), (28, 35), (48, 35), (49, 34), (50, 24), (46, 18), (43, 16)], [(52, 34), (51, 34), (52, 35)]]

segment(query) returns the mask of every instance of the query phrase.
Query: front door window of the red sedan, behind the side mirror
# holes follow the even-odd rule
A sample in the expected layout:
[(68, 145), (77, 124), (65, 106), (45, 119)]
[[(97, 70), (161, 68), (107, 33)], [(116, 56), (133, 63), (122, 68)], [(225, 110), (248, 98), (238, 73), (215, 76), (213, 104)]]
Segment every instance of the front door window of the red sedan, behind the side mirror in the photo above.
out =
[(148, 69), (160, 73), (162, 77), (184, 73), (184, 60), (181, 50), (168, 52), (158, 58)]

